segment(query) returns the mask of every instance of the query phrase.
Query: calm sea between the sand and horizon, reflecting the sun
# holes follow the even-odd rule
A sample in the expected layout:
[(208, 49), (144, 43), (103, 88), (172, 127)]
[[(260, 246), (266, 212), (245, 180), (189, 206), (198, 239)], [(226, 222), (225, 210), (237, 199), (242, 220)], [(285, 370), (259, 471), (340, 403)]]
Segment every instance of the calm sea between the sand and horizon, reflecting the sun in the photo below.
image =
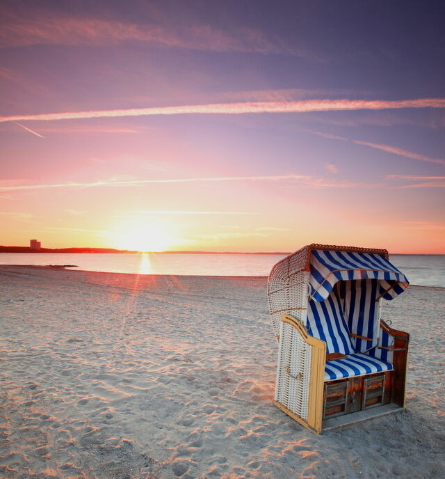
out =
[[(162, 253), (0, 253), (1, 265), (77, 265), (112, 273), (268, 276), (282, 255)], [(391, 255), (410, 283), (445, 288), (445, 255)]]

